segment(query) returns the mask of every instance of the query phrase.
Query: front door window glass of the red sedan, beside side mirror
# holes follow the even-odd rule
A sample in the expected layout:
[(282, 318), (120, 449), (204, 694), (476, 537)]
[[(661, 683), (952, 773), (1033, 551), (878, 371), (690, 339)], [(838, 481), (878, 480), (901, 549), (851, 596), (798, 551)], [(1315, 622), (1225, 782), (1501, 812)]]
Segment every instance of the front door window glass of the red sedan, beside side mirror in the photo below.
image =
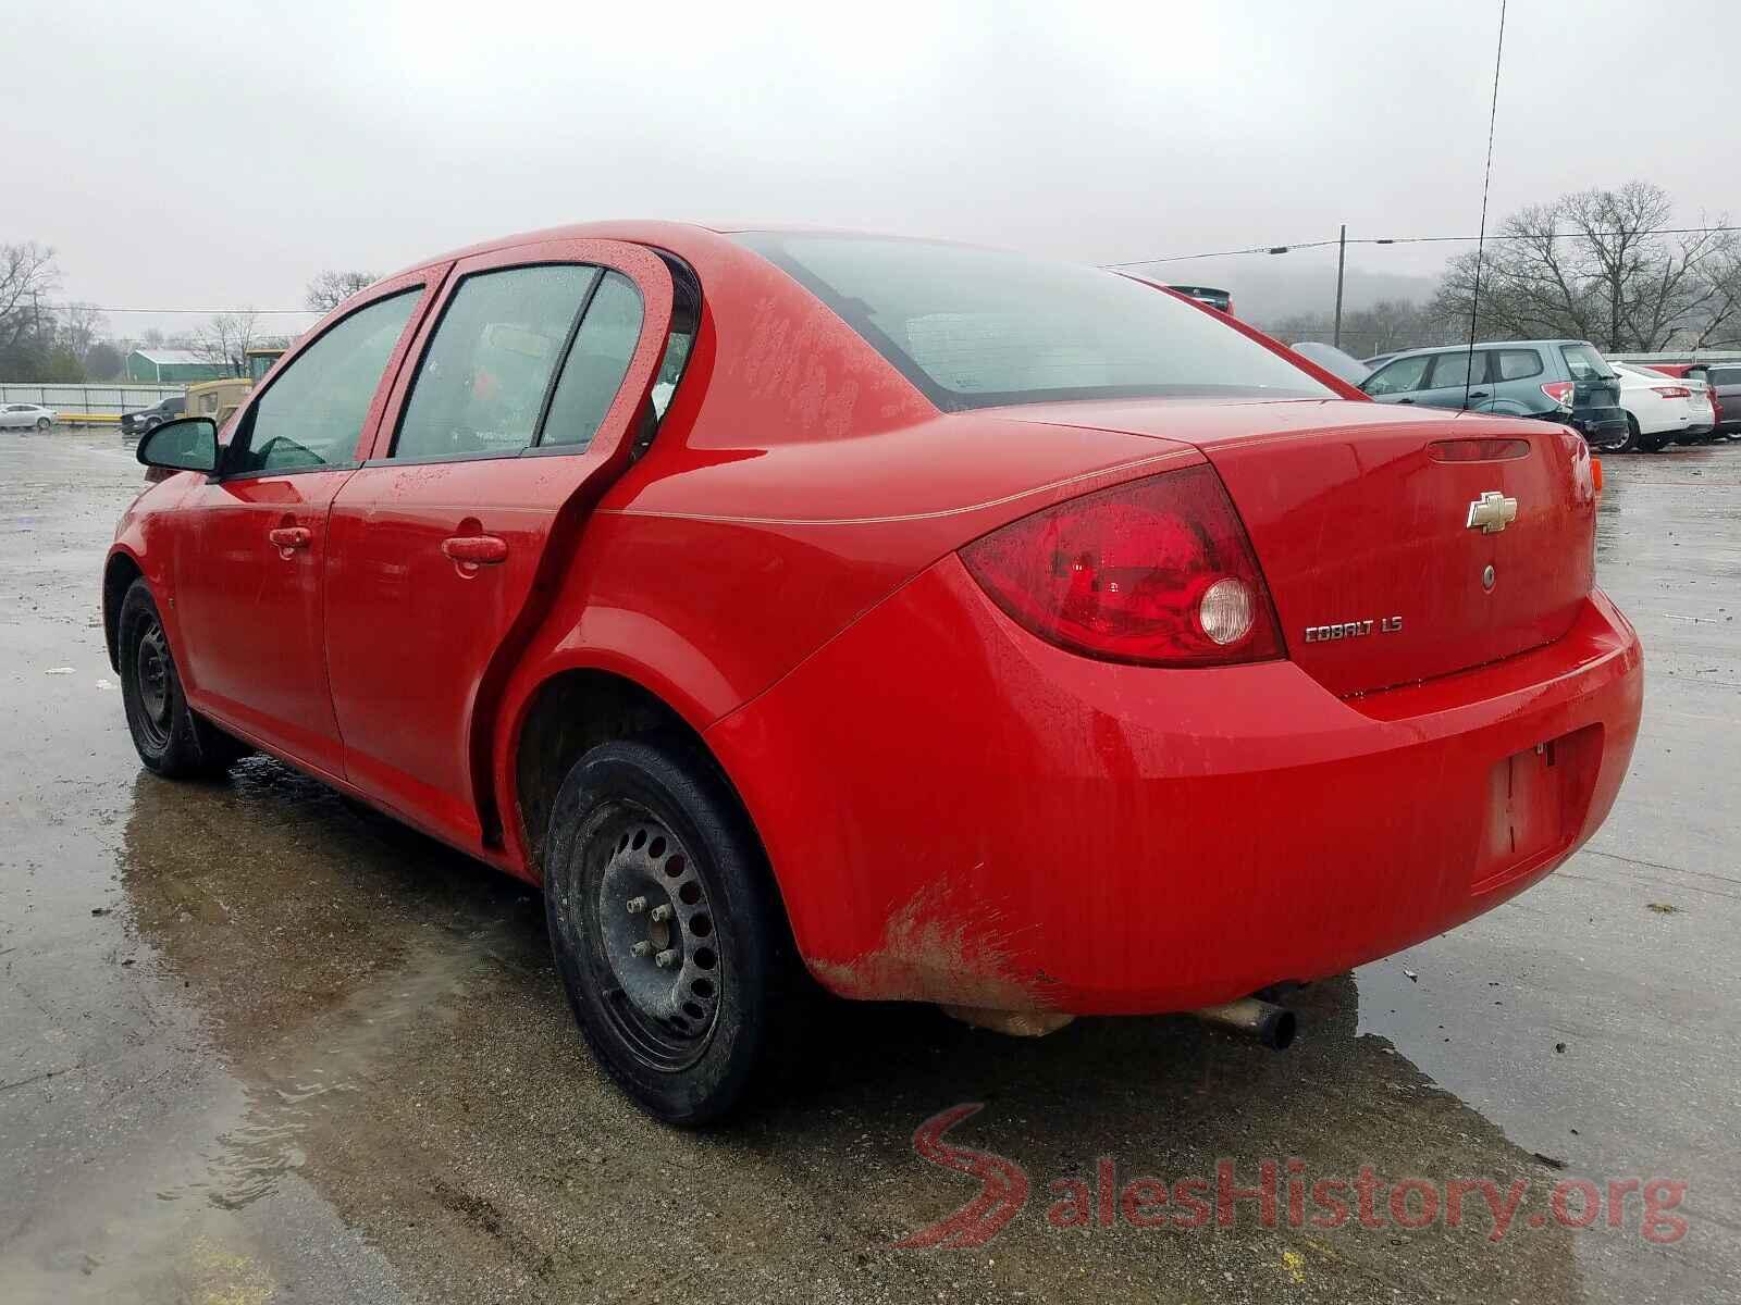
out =
[(303, 350), (251, 409), (225, 473), (350, 463), (381, 372), (421, 292), (402, 291), (360, 308)]

